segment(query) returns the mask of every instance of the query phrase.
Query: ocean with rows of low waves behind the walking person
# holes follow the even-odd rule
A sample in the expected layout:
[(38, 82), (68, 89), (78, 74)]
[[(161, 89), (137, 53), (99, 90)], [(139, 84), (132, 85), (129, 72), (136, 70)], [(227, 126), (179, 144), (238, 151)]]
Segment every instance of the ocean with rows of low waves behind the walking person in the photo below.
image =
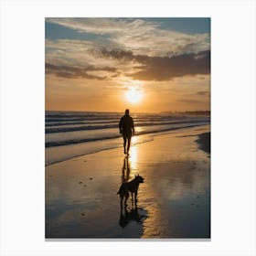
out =
[[(207, 114), (133, 113), (135, 135), (132, 144), (155, 135), (210, 123)], [(121, 112), (46, 112), (46, 165), (123, 146), (119, 133)]]

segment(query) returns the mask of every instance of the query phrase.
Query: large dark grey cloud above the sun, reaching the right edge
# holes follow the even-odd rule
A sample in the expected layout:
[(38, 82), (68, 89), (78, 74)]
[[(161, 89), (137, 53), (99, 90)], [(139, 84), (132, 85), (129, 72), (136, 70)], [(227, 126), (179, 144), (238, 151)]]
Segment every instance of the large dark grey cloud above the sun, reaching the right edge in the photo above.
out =
[(187, 75), (205, 75), (210, 72), (210, 51), (186, 53), (172, 57), (133, 55), (132, 51), (102, 49), (105, 58), (134, 61), (141, 64), (139, 71), (127, 74), (135, 80), (172, 80)]

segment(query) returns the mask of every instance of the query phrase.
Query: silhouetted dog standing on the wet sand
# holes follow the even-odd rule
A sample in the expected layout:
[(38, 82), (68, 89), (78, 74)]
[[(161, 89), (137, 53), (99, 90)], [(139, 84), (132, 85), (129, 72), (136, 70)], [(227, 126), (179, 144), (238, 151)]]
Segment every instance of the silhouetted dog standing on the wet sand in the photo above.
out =
[(133, 195), (135, 196), (135, 206), (137, 203), (137, 194), (138, 194), (138, 188), (140, 183), (144, 183), (144, 177), (142, 176), (135, 176), (133, 178), (133, 180), (129, 181), (129, 182), (123, 182), (123, 184), (121, 185), (121, 187), (119, 188), (119, 191), (117, 192), (117, 195), (120, 195), (120, 203), (121, 206), (123, 206), (123, 197), (125, 197), (125, 207), (127, 206), (127, 199), (129, 197), (129, 192), (131, 192), (132, 194), (132, 201), (133, 201)]

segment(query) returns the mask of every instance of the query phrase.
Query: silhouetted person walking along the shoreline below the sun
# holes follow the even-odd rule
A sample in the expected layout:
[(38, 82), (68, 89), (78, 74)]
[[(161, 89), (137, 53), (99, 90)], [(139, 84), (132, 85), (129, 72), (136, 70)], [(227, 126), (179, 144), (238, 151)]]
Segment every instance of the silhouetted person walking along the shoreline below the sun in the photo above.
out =
[[(120, 119), (119, 122), (119, 131), (123, 134), (123, 149), (124, 154), (129, 154), (130, 144), (131, 144), (131, 138), (132, 133), (134, 134), (134, 124), (133, 124), (133, 118), (129, 114), (129, 110), (127, 109), (125, 111), (125, 114)], [(126, 142), (127, 144), (127, 151), (126, 151)]]

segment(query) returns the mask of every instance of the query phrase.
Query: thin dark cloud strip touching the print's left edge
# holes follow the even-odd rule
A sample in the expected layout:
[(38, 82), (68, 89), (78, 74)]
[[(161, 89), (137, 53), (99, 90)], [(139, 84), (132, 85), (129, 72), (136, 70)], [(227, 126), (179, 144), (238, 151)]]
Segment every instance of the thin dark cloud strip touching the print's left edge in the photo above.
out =
[(76, 68), (71, 66), (63, 66), (63, 65), (53, 65), (50, 63), (46, 63), (46, 73), (55, 74), (61, 78), (67, 79), (78, 79), (78, 78), (85, 78), (90, 80), (107, 80), (108, 77), (102, 76), (95, 76), (88, 73), (88, 71), (108, 71), (108, 72), (115, 72), (115, 68), (111, 67), (103, 67), (103, 68), (96, 68), (93, 66), (89, 66), (87, 68)]

